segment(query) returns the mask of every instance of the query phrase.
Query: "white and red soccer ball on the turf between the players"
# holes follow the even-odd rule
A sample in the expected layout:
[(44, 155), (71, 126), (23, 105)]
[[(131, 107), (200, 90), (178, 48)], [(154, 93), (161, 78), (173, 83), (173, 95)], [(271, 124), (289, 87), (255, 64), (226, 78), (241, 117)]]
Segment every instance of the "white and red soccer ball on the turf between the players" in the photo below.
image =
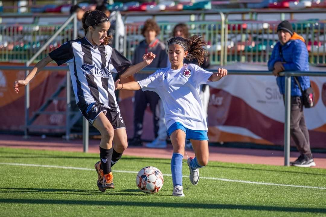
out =
[(163, 174), (156, 167), (142, 168), (136, 177), (137, 187), (145, 194), (155, 194), (163, 186)]

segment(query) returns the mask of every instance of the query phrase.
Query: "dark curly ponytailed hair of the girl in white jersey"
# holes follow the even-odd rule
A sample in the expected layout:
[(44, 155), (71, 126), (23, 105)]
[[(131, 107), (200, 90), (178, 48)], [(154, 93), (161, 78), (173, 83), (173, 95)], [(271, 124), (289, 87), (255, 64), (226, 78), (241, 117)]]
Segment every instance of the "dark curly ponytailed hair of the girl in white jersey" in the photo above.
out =
[(168, 45), (170, 44), (182, 45), (184, 49), (188, 51), (188, 55), (185, 58), (189, 61), (196, 59), (201, 65), (205, 58), (207, 58), (205, 56), (207, 53), (207, 50), (205, 49), (206, 42), (201, 35), (193, 35), (189, 39), (173, 37), (168, 41)]

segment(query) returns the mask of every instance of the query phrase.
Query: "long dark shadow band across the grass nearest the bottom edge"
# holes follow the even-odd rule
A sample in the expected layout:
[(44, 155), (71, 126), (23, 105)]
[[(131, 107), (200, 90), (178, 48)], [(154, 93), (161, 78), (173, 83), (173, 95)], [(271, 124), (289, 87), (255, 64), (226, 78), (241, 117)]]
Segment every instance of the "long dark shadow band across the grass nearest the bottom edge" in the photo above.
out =
[(0, 199), (0, 203), (19, 204), (51, 204), (51, 205), (94, 205), (94, 206), (139, 206), (139, 207), (172, 207), (172, 208), (199, 208), (199, 209), (226, 209), (226, 210), (259, 210), (282, 212), (310, 212), (326, 213), (325, 208), (304, 207), (275, 207), (237, 204), (203, 204), (203, 203), (176, 203), (176, 202), (146, 202), (143, 201), (96, 201), (96, 200), (52, 200), (52, 199)]

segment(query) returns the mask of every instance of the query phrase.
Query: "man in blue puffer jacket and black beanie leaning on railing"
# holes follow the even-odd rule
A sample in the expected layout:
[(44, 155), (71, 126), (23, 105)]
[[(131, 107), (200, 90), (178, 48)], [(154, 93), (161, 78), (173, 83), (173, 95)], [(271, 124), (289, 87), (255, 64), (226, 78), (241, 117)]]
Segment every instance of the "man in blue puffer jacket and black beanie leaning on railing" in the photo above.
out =
[[(309, 71), (308, 50), (304, 38), (296, 34), (289, 21), (285, 20), (277, 26), (279, 42), (276, 43), (271, 59), (268, 61), (268, 70), (277, 76), (276, 82), (281, 94), (285, 93), (285, 77), (278, 74), (282, 71)], [(298, 76), (298, 81), (303, 90), (310, 87), (308, 76)], [(309, 132), (304, 120), (302, 93), (291, 77), (291, 122), (290, 132), (300, 156), (292, 166), (316, 166), (310, 150)]]

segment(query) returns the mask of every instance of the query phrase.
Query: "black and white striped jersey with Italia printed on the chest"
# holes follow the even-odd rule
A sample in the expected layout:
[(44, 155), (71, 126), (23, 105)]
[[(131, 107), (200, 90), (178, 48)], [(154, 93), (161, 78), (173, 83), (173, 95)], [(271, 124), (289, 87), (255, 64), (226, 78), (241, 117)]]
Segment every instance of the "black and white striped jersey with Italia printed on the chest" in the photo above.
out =
[(93, 46), (83, 37), (66, 42), (49, 56), (58, 66), (69, 63), (76, 103), (81, 110), (97, 102), (119, 111), (111, 73), (121, 75), (131, 62), (116, 49), (109, 45)]

